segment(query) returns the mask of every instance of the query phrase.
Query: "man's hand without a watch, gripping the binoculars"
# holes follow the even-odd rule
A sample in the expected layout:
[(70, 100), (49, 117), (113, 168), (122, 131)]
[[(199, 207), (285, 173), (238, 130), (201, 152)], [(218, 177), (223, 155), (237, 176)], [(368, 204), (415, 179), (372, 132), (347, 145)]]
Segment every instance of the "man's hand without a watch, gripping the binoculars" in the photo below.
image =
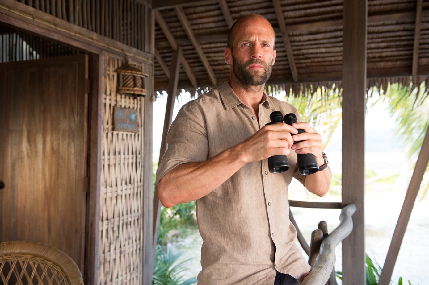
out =
[(293, 135), (297, 133), (296, 128), (285, 123), (266, 125), (233, 149), (242, 153), (245, 163), (288, 155), (293, 145)]

